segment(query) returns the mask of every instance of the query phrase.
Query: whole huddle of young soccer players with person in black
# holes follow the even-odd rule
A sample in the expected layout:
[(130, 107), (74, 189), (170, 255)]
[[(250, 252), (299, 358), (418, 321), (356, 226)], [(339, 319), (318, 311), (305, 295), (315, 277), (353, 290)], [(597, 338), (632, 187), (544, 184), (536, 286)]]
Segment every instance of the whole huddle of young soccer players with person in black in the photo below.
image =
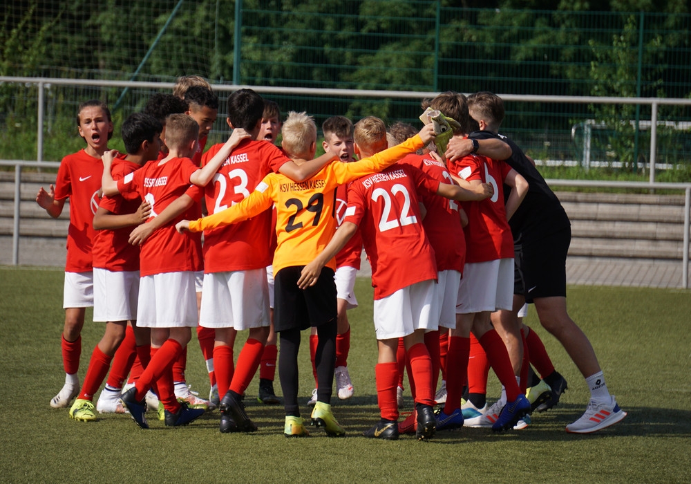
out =
[[(277, 362), (285, 436), (307, 436), (298, 351), (301, 331), (312, 328), (311, 423), (344, 436), (332, 385), (335, 375), (339, 398), (353, 395), (347, 310), (357, 306), (364, 248), (375, 288), (381, 417), (364, 436), (522, 429), (532, 411), (553, 407), (567, 384), (522, 324), (525, 303), (591, 391), (567, 431), (623, 419), (566, 311), (569, 220), (532, 160), (498, 135), (502, 100), (446, 92), (423, 107), (442, 113), (437, 121), (451, 122), (453, 137), (435, 132), (432, 120), (417, 133), (404, 123), (387, 130), (372, 116), (354, 125), (334, 116), (322, 126), (325, 154), (314, 158), (313, 118), (290, 112), (281, 123), (278, 105), (249, 89), (228, 98), (227, 142), (205, 151), (218, 97), (197, 76), (181, 77), (172, 95), (154, 95), (124, 121), (126, 153), (108, 150), (108, 107), (79, 106), (86, 148), (66, 156), (55, 187), (37, 195), (54, 217), (70, 199), (66, 381), (51, 406), (70, 407), (70, 418), (81, 421), (97, 420), (96, 411), (129, 412), (142, 428), (147, 407), (167, 426), (218, 407), (221, 432), (252, 432), (245, 391), (259, 371), (259, 402), (278, 404)], [(106, 326), (80, 386), (80, 333), (92, 305), (93, 320)], [(207, 364), (209, 400), (184, 378), (191, 328)], [(236, 334), (245, 329), (235, 359)], [(489, 366), (502, 394), (488, 407)], [(399, 422), (406, 367), (415, 407)]]

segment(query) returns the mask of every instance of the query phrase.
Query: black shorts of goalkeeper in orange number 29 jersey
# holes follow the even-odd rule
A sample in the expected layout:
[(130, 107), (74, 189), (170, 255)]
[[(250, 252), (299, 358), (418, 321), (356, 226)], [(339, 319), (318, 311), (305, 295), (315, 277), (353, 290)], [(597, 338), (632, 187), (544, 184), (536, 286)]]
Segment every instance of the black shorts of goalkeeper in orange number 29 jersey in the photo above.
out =
[(335, 321), (337, 315), (334, 271), (323, 268), (314, 286), (298, 287), (304, 266), (283, 268), (274, 276), (274, 330), (307, 329)]

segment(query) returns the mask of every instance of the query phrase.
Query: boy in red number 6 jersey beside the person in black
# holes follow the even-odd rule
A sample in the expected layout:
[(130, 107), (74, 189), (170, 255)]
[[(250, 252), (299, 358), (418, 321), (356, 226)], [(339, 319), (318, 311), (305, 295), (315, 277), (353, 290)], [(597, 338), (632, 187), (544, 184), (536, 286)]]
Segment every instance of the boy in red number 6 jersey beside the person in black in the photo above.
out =
[[(465, 97), (462, 102), (465, 104)], [(465, 113), (467, 119), (467, 108)], [(466, 129), (471, 126), (470, 121), (461, 124)], [(513, 237), (507, 220), (520, 205), (528, 184), (503, 162), (474, 154), (477, 152), (475, 143), (473, 154), (448, 163), (449, 171), (460, 183), (491, 183), (495, 187), (495, 194), (482, 202), (464, 203), (464, 210), (468, 214), (468, 225), (464, 229), (466, 266), (458, 292), (456, 328), (451, 331), (449, 338), (446, 360), (447, 395), (443, 412), (444, 416), (460, 413), (472, 329), (485, 349), (504, 391), (502, 398), (484, 415), (466, 420), (465, 425), (492, 427), (494, 431), (502, 431), (513, 428), (530, 411), (530, 403), (522, 395), (513, 375), (507, 348), (490, 323), (490, 315), (495, 310), (512, 307)], [(505, 206), (504, 184), (511, 187)], [(454, 351), (452, 355), (451, 348), (458, 348), (458, 351)]]

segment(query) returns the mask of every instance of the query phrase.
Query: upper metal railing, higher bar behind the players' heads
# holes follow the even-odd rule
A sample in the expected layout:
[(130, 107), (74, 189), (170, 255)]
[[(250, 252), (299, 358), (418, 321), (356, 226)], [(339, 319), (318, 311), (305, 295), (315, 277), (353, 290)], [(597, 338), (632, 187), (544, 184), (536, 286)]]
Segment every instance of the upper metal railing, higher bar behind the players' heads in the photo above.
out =
[[(83, 80), (83, 79), (61, 79), (53, 77), (11, 77), (0, 76), (1, 82), (12, 82), (22, 84), (35, 84), (37, 86), (37, 153), (36, 159), (43, 160), (44, 151), (44, 89), (51, 84), (69, 86), (101, 86), (101, 87), (122, 87), (126, 89), (165, 89), (170, 91), (173, 87), (171, 82), (133, 82), (133, 81), (112, 81), (112, 80)], [(375, 97), (393, 98), (405, 100), (423, 100), (434, 97), (435, 92), (422, 91), (372, 91), (356, 89), (315, 89), (303, 87), (276, 87), (276, 86), (243, 86), (236, 84), (214, 84), (215, 91), (232, 92), (238, 89), (254, 89), (258, 93), (281, 94), (281, 95), (305, 95), (323, 97)], [(511, 102), (544, 102), (551, 104), (633, 104), (636, 106), (651, 106), (650, 120), (639, 120), (641, 125), (645, 124), (650, 129), (650, 157), (648, 167), (650, 171), (649, 181), (655, 182), (655, 163), (657, 154), (657, 128), (659, 126), (658, 108), (659, 106), (691, 106), (691, 99), (663, 98), (663, 97), (595, 97), (595, 96), (554, 96), (554, 95), (516, 95), (500, 94), (504, 101)]]

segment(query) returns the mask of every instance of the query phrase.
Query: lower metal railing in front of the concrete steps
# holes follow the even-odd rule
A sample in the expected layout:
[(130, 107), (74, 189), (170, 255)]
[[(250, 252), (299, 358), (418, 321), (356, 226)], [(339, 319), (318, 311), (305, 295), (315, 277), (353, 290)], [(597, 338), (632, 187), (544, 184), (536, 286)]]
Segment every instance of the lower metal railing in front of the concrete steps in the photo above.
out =
[[(12, 221), (12, 265), (19, 264), (19, 222), (21, 213), (21, 169), (23, 167), (57, 168), (59, 162), (39, 162), (22, 160), (0, 160), (0, 166), (15, 168), (15, 195)], [(593, 180), (547, 180), (550, 187), (590, 187), (590, 188), (618, 188), (618, 189), (643, 189), (643, 190), (683, 190), (684, 191), (684, 223), (683, 223), (683, 255), (682, 255), (682, 287), (688, 289), (689, 279), (689, 228), (691, 225), (691, 183), (646, 183), (646, 182), (608, 182)]]

